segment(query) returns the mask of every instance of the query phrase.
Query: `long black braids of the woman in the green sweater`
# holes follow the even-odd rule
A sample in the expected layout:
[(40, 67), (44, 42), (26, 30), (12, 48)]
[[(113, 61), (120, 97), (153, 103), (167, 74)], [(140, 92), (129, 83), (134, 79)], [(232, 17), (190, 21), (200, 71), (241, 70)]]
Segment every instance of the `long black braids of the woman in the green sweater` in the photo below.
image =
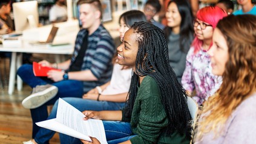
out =
[(137, 96), (139, 76), (151, 76), (156, 80), (162, 96), (162, 103), (169, 119), (166, 134), (178, 131), (191, 137), (192, 120), (185, 89), (177, 80), (169, 65), (168, 45), (163, 31), (148, 22), (135, 22), (131, 28), (137, 33), (139, 50), (136, 57), (136, 74), (133, 74), (129, 99), (125, 106), (125, 117), (131, 117)]

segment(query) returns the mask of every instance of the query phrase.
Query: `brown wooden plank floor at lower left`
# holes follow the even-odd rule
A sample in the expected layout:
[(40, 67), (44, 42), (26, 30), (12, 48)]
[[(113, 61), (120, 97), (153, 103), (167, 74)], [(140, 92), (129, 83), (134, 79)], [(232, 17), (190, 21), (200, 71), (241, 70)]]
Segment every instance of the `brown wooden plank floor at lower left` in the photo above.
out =
[[(22, 91), (15, 89), (13, 94), (8, 95), (8, 65), (8, 59), (0, 59), (0, 143), (22, 143), (31, 139), (30, 110), (21, 105), (31, 93), (31, 88), (24, 84)], [(58, 134), (50, 143), (59, 143)]]

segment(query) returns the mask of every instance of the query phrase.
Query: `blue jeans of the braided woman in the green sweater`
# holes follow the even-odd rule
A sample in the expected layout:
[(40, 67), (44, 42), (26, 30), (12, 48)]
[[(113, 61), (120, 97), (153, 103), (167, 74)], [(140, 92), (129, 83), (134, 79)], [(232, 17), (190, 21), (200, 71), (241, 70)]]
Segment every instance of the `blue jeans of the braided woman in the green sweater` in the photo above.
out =
[[(122, 143), (137, 136), (131, 131), (131, 124), (128, 122), (107, 121), (103, 120), (103, 126), (108, 144)], [(82, 143), (76, 139), (65, 134), (59, 134), (61, 143)]]

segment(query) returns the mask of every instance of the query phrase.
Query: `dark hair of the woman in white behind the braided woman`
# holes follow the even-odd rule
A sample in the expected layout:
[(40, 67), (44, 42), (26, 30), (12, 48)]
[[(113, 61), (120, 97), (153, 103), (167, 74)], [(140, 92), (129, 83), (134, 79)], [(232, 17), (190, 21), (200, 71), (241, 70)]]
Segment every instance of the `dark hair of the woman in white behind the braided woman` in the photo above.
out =
[(146, 21), (146, 16), (144, 13), (140, 10), (130, 10), (126, 11), (119, 17), (119, 24), (120, 20), (123, 18), (123, 21), (125, 21), (125, 24), (130, 28), (131, 25), (134, 24), (134, 22), (139, 22), (139, 21)]

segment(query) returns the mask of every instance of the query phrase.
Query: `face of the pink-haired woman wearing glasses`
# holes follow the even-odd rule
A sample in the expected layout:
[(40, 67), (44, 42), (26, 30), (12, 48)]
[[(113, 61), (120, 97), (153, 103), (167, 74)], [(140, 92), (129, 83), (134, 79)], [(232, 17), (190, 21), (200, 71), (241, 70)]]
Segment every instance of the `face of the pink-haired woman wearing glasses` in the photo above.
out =
[(195, 27), (194, 25), (194, 31), (195, 31), (195, 36), (197, 36), (198, 39), (202, 41), (207, 41), (212, 39), (212, 34), (214, 29), (212, 26), (206, 26), (205, 29), (203, 30), (202, 27), (200, 26), (200, 23), (205, 23), (206, 25), (209, 25), (207, 22), (200, 21), (199, 19), (196, 19), (195, 21), (199, 22), (199, 25)]

